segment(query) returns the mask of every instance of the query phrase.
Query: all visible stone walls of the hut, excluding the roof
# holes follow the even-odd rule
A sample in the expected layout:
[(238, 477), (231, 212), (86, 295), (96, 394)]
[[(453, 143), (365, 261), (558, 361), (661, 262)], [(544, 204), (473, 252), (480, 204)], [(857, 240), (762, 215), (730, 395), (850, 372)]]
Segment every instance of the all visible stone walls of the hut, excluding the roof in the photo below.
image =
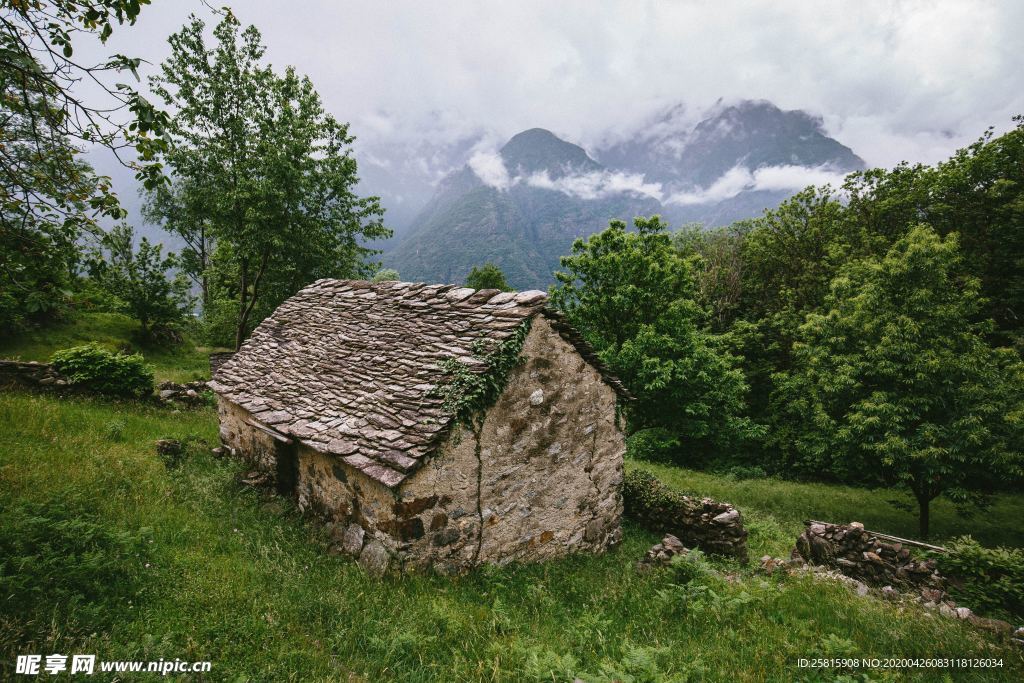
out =
[[(625, 441), (615, 394), (543, 318), (523, 353), (479, 434), (460, 428), (397, 490), (299, 444), (299, 507), (332, 523), (336, 547), (375, 572), (454, 572), (616, 544)], [(273, 438), (247, 425), (243, 409), (219, 405), (224, 444), (273, 477)]]

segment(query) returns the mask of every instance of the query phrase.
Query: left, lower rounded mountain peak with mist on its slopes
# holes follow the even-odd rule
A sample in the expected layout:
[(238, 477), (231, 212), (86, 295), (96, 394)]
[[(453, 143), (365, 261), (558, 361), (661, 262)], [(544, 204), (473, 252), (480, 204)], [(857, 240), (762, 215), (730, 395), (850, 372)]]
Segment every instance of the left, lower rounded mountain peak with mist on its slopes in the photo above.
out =
[(460, 282), (474, 265), (492, 261), (515, 287), (546, 287), (575, 238), (609, 218), (658, 210), (656, 200), (637, 193), (559, 188), (578, 179), (600, 182), (604, 171), (583, 147), (547, 130), (519, 133), (442, 180), (385, 263), (403, 280)]

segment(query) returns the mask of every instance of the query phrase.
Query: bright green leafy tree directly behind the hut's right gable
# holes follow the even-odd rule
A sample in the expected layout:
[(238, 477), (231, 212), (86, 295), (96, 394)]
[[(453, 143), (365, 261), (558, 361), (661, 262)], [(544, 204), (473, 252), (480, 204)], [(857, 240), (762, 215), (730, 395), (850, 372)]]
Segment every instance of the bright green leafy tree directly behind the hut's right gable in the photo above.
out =
[(562, 257), (552, 303), (634, 393), (631, 427), (662, 427), (694, 452), (757, 435), (741, 417), (746, 386), (735, 359), (703, 331), (691, 262), (655, 216), (577, 240)]

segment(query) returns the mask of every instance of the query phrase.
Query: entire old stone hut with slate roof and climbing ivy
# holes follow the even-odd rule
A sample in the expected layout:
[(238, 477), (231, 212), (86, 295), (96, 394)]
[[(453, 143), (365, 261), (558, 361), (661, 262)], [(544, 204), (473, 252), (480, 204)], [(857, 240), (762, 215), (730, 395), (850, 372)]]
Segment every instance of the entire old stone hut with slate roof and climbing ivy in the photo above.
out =
[(373, 571), (602, 552), (629, 395), (546, 301), (317, 281), (217, 371), (221, 440)]

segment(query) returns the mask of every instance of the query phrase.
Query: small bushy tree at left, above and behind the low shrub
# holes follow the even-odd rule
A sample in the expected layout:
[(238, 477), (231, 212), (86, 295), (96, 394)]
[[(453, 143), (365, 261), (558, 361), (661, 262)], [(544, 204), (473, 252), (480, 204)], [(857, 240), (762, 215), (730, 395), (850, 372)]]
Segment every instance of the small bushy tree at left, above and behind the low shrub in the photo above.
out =
[(195, 301), (183, 273), (167, 276), (178, 266), (174, 254), (164, 256), (163, 246), (150, 244), (145, 238), (135, 250), (133, 241), (134, 230), (128, 225), (112, 229), (103, 236), (102, 249), (96, 251), (90, 270), (99, 285), (139, 322), (142, 335), (152, 337), (157, 330), (168, 330), (180, 323), (191, 312)]

